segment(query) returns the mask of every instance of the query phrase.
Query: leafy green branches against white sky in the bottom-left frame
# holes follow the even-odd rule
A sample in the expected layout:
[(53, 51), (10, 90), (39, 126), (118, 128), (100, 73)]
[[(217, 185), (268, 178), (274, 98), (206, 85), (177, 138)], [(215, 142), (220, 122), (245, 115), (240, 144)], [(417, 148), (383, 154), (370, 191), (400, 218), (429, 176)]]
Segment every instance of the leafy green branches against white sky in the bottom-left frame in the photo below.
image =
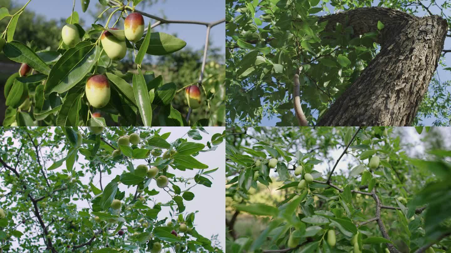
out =
[[(215, 155), (223, 135), (202, 140), (200, 132), (207, 132), (205, 129), (184, 129), (184, 136), (168, 143), (171, 132), (156, 128), (112, 127), (94, 135), (83, 127), (78, 128), (83, 143), (76, 146), (76, 128), (0, 128), (0, 142), (4, 144), (0, 150), (0, 208), (6, 213), (0, 219), (1, 250), (143, 252), (154, 242), (161, 242), (164, 250), (171, 252), (222, 252), (216, 236), (208, 239), (196, 231), (194, 225), (200, 219), (196, 212), (184, 210), (195, 198), (190, 189), (212, 187), (209, 178), (217, 170), (206, 168), (195, 157), (199, 152)], [(121, 145), (122, 154), (127, 156), (112, 158), (118, 137), (132, 132), (140, 134), (141, 143)], [(189, 142), (187, 136), (202, 142)], [(158, 156), (149, 154), (154, 149), (177, 152), (163, 159), (161, 152)], [(169, 178), (169, 186), (157, 188), (155, 180), (135, 175), (137, 163), (158, 167), (160, 175)], [(118, 173), (120, 165), (126, 170)], [(197, 171), (196, 176), (178, 175), (185, 170)], [(163, 194), (170, 196), (168, 202), (161, 200)], [(123, 203), (120, 212), (110, 208), (113, 199)], [(77, 206), (80, 201), (89, 208)], [(101, 221), (95, 221), (95, 216)], [(144, 221), (147, 227), (142, 225)], [(166, 225), (168, 221), (173, 224)], [(181, 223), (191, 231), (180, 233)], [(117, 235), (120, 229), (124, 236)], [(176, 237), (171, 230), (182, 236)], [(55, 251), (46, 250), (46, 245)]]

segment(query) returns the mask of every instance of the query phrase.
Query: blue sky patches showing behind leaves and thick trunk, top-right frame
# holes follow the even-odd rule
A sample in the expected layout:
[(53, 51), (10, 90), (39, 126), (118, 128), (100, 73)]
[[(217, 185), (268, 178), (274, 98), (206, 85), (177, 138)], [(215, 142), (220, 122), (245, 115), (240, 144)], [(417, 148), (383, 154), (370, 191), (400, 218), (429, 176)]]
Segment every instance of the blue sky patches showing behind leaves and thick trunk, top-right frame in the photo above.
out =
[[(443, 0), (437, 0), (436, 2), (437, 2), (438, 5), (442, 5), (444, 1)], [(379, 1), (375, 1), (373, 3), (373, 6), (377, 6), (378, 3), (379, 3)], [(430, 2), (429, 1), (423, 1), (423, 3), (425, 5), (428, 5), (428, 3), (430, 3)], [(333, 6), (331, 6), (331, 5), (327, 5), (327, 7), (331, 11), (334, 10)], [(255, 17), (258, 17), (259, 15), (263, 14), (262, 11), (259, 11), (259, 8), (257, 8), (257, 10), (258, 11), (256, 12)], [(419, 10), (419, 13), (416, 14), (417, 16), (423, 17), (425, 15), (428, 15), (428, 13), (426, 11), (423, 11), (421, 9), (418, 9), (418, 10)], [(431, 6), (429, 8), (429, 10), (433, 14), (440, 15), (440, 9), (438, 9), (438, 7), (435, 6), (435, 5)], [(444, 11), (445, 11), (446, 16), (451, 15), (451, 11), (450, 10), (444, 10)], [(326, 14), (327, 13), (325, 11), (322, 11), (322, 12), (319, 12), (317, 15), (318, 16), (323, 16), (323, 15), (326, 15)], [(266, 23), (264, 25), (266, 25)], [(451, 38), (450, 37), (446, 37), (444, 49), (448, 49), (448, 50), (451, 49)], [(447, 57), (451, 57), (451, 53), (446, 54), (446, 56)], [(442, 58), (442, 61), (446, 64), (446, 57)], [(451, 80), (450, 71), (446, 71), (446, 70), (443, 69), (443, 68), (447, 68), (447, 67), (450, 67), (450, 66), (442, 67), (442, 66), (439, 65), (438, 68), (437, 68), (436, 76), (438, 74), (438, 77), (440, 78), (441, 82)], [(448, 87), (447, 90), (451, 90), (451, 87)], [(264, 104), (263, 99), (261, 99), (261, 102), (262, 102), (262, 104)], [(292, 112), (294, 113), (294, 110), (292, 110)], [(314, 112), (314, 115), (315, 115), (315, 117), (318, 117), (318, 112)], [(425, 125), (425, 126), (430, 126), (435, 120), (436, 120), (436, 118), (432, 117), (432, 118), (424, 119), (420, 123)], [(262, 122), (259, 125), (260, 126), (275, 126), (276, 123), (280, 122), (280, 121), (281, 120), (278, 117), (272, 117), (272, 118), (263, 117)]]

